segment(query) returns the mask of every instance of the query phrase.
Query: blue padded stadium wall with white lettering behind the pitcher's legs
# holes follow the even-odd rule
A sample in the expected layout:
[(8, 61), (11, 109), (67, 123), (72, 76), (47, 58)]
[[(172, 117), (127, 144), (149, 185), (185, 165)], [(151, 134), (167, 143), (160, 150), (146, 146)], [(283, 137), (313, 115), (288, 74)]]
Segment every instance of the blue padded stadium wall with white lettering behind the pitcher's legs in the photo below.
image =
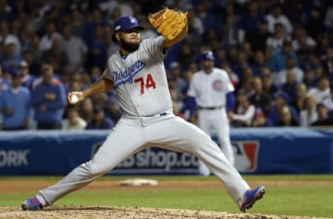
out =
[[(0, 132), (0, 175), (66, 175), (89, 161), (111, 131)], [(241, 173), (333, 173), (333, 130), (232, 128), (231, 139)], [(197, 175), (197, 166), (194, 155), (148, 148), (108, 175)]]

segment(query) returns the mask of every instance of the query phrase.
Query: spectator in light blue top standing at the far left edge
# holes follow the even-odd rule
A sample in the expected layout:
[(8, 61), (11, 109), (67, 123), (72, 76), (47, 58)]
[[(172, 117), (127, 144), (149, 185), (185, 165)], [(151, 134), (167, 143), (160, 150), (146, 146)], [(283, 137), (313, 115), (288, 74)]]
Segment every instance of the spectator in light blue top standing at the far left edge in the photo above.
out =
[(21, 85), (21, 74), (12, 71), (12, 85), (1, 92), (0, 110), (3, 112), (3, 130), (28, 128), (31, 115), (31, 94)]

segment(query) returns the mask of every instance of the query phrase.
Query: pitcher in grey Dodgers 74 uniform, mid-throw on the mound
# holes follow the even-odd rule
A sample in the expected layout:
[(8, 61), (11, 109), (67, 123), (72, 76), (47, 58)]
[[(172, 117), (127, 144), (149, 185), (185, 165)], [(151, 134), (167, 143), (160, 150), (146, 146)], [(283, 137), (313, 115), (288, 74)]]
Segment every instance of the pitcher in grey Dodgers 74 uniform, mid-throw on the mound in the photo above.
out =
[[(173, 13), (184, 19), (182, 12)], [(162, 11), (160, 15), (163, 15)], [(115, 88), (121, 119), (92, 160), (72, 170), (57, 184), (26, 199), (22, 204), (23, 210), (49, 206), (71, 191), (110, 172), (126, 157), (151, 146), (191, 152), (200, 157), (221, 179), (241, 211), (246, 211), (262, 198), (264, 186), (251, 190), (205, 132), (173, 114), (163, 59), (167, 50), (187, 35), (186, 14), (184, 21), (171, 23), (180, 22), (185, 25), (176, 37), (169, 37), (163, 32), (161, 36), (143, 41), (139, 34), (143, 27), (139, 26), (135, 17), (122, 16), (114, 22), (112, 40), (120, 50), (109, 58), (108, 67), (99, 80), (83, 91), (69, 93), (68, 99), (69, 103), (76, 103)]]

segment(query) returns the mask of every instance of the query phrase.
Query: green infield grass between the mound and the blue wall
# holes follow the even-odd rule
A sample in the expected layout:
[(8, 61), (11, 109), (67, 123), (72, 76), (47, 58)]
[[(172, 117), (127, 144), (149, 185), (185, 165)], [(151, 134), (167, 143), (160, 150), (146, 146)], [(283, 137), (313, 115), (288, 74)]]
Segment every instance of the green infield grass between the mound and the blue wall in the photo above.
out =
[[(32, 177), (28, 177), (31, 179)], [(99, 180), (120, 180), (131, 177), (103, 177)], [(145, 177), (164, 180), (216, 180), (216, 177)], [(0, 186), (6, 179), (0, 178)], [(27, 177), (19, 177), (27, 179)], [(33, 177), (33, 179), (60, 179), (59, 177)], [(302, 186), (266, 186), (263, 200), (259, 200), (249, 213), (268, 213), (275, 215), (333, 217), (333, 175), (267, 175), (245, 176), (252, 181), (287, 181), (309, 180), (312, 185)], [(330, 185), (316, 184), (316, 181), (332, 182)], [(190, 188), (191, 185), (189, 185)], [(42, 188), (41, 188), (42, 189)], [(33, 192), (33, 191), (32, 191)], [(0, 193), (0, 206), (19, 206), (26, 197), (33, 193)], [(137, 206), (173, 209), (194, 209), (206, 211), (239, 212), (236, 205), (223, 188), (168, 189), (168, 190), (130, 190), (130, 191), (77, 191), (62, 198), (57, 205), (99, 205), (99, 206)]]

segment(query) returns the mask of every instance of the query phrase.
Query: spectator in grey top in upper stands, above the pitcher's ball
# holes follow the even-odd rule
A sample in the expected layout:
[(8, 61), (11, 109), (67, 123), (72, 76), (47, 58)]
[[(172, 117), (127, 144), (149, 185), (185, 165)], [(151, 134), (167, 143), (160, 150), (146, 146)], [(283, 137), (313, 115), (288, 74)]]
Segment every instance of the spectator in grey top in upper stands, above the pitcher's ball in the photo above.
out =
[(64, 39), (61, 42), (63, 51), (67, 54), (69, 67), (71, 70), (79, 69), (87, 58), (87, 46), (79, 37), (73, 35), (71, 25), (63, 28)]

